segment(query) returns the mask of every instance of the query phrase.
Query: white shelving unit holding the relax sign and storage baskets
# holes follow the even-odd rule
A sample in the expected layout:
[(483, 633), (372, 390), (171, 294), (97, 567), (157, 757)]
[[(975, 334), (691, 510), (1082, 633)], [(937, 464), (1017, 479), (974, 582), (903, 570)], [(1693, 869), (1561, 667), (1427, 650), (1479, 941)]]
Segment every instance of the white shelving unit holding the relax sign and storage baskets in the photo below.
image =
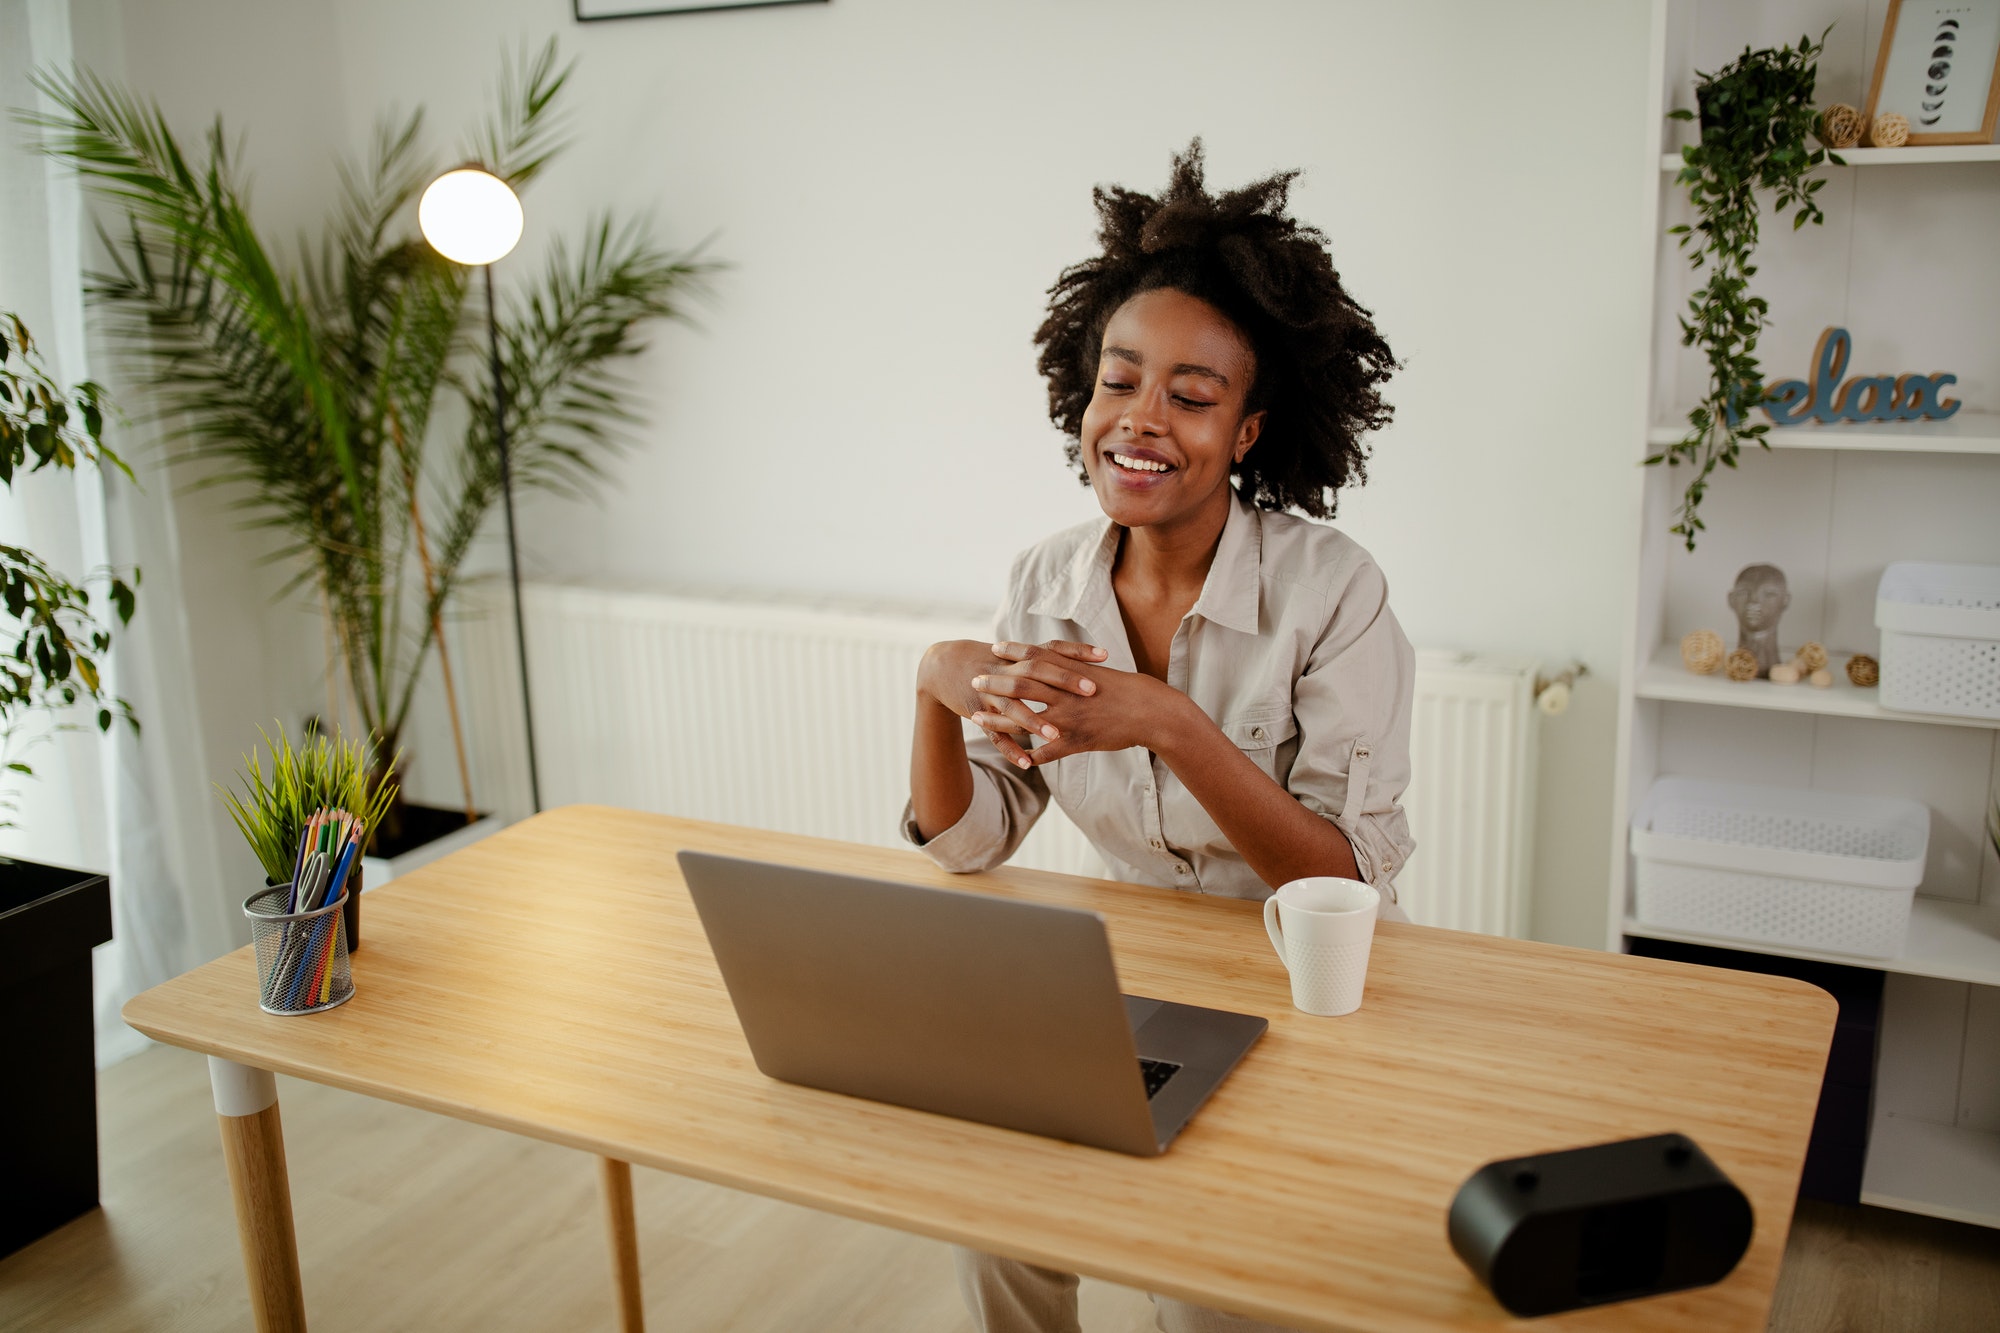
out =
[[(1652, 402), (1634, 458), (1682, 436), (1706, 362), (1680, 346), (1678, 316), (1700, 284), (1666, 228), (1690, 218), (1674, 182), (1694, 126), (1694, 72), (1746, 46), (1796, 42), (1834, 24), (1820, 102), (1860, 106), (1874, 70), (1880, 0), (1656, 0), (1662, 136), (1654, 256)], [(2000, 723), (1896, 713), (1848, 685), (1838, 654), (1880, 656), (1874, 586), (1892, 560), (2000, 564), (2000, 144), (1858, 148), (1826, 166), (1826, 224), (1766, 226), (1752, 290), (1772, 306), (1758, 356), (1770, 378), (1810, 378), (1822, 328), (1854, 334), (1846, 374), (1958, 376), (1944, 422), (1774, 426), (1712, 480), (1708, 530), (1690, 554), (1668, 532), (1686, 468), (1636, 484), (1636, 582), (1620, 691), (1610, 947), (1632, 937), (1880, 969), (1872, 1137), (1862, 1201), (2000, 1227), (2000, 855), (1984, 815), (2000, 793)], [(1920, 172), (1878, 170), (1924, 166)], [(1836, 652), (1836, 685), (1732, 683), (1680, 664), (1694, 628), (1734, 638), (1726, 594), (1744, 564), (1786, 570), (1786, 646)], [(1632, 919), (1632, 811), (1660, 777), (1908, 797), (1932, 811), (1930, 859), (1910, 937), (1894, 959), (1860, 959), (1666, 931)]]

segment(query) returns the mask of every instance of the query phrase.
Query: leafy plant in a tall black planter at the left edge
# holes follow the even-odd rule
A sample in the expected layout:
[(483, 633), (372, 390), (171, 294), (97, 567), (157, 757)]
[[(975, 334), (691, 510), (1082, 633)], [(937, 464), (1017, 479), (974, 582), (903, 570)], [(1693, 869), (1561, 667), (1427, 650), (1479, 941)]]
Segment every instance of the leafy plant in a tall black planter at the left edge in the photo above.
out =
[[(104, 446), (96, 384), (62, 388), (42, 368), (18, 316), (0, 312), (0, 484), (42, 468), (118, 466)], [(106, 596), (130, 622), (134, 584), (106, 576)], [(0, 544), (0, 598), (14, 632), (0, 656), (0, 753), (6, 781), (34, 777), (24, 735), (30, 719), (94, 709), (100, 731), (130, 705), (110, 695), (102, 656), (112, 630), (90, 588), (32, 550)], [(16, 805), (0, 791), (0, 827)], [(8, 1041), (8, 1093), (0, 1097), (0, 1255), (98, 1205), (96, 1035), (90, 949), (112, 937), (110, 881), (0, 857), (0, 1033)]]

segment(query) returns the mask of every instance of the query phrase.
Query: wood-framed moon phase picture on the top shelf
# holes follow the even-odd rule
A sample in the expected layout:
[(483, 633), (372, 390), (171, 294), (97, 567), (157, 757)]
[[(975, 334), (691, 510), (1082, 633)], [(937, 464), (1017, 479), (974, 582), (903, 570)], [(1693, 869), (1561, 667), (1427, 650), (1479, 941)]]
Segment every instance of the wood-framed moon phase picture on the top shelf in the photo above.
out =
[(1888, 0), (1868, 120), (1902, 112), (1912, 144), (1990, 144), (2000, 126), (2000, 0)]

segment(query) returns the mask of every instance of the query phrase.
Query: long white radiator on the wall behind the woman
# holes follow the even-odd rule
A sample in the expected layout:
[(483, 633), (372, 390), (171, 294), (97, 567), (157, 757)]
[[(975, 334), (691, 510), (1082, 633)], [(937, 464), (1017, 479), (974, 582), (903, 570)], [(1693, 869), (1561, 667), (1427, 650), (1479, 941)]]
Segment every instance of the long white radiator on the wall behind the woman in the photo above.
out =
[[(618, 805), (898, 847), (916, 660), (984, 638), (976, 614), (802, 606), (528, 584), (542, 805)], [(528, 761), (504, 588), (452, 626), (482, 805), (526, 813)], [(1398, 877), (1416, 921), (1522, 935), (1534, 781), (1534, 666), (1418, 654), (1418, 851)], [(436, 729), (428, 733), (436, 737)], [(434, 749), (434, 741), (426, 741)], [(428, 751), (426, 751), (428, 753)], [(426, 769), (444, 773), (446, 757)], [(1104, 867), (1054, 807), (1016, 865)]]

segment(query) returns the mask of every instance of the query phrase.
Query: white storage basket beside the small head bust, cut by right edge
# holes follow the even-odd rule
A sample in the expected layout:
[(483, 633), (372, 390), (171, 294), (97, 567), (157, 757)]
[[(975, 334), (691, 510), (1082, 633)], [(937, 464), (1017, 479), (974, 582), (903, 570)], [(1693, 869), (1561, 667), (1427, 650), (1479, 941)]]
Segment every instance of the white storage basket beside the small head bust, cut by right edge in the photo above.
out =
[(1884, 709), (2000, 717), (2000, 564), (1890, 564), (1876, 628)]

